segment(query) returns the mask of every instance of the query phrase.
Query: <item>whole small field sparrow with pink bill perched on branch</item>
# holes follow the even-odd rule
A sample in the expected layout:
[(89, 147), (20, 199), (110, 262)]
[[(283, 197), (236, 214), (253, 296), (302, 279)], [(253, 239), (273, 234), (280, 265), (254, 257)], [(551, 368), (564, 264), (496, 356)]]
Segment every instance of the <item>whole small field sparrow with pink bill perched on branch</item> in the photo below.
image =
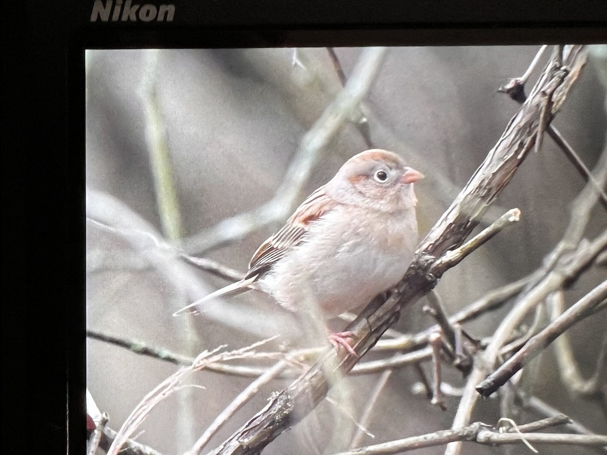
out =
[(423, 177), (393, 152), (355, 155), (257, 249), (243, 280), (178, 312), (249, 289), (293, 311), (313, 299), (325, 317), (367, 304), (409, 267), (418, 242), (413, 183)]

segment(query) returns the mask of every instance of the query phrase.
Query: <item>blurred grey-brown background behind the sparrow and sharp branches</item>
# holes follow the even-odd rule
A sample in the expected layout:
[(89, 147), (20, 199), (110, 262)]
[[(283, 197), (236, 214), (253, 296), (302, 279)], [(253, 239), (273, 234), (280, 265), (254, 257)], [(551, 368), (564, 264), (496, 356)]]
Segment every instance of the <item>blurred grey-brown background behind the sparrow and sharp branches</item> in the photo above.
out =
[[(87, 329), (186, 357), (220, 345), (242, 348), (274, 335), (279, 337), (258, 350), (306, 347), (308, 338), (301, 336), (297, 317), (259, 294), (212, 303), (197, 315), (173, 317), (177, 309), (229, 281), (172, 252), (185, 251), (245, 272), (257, 246), (292, 209), (348, 158), (371, 146), (393, 150), (426, 175), (416, 184), (419, 232), (425, 235), (517, 112), (518, 105), (497, 89), (523, 75), (538, 49), (401, 47), (375, 54), (356, 48), (87, 51)], [(601, 73), (606, 60), (597, 49), (553, 122), (591, 169), (605, 149), (607, 131)], [(547, 51), (527, 90), (548, 56)], [(361, 96), (354, 109), (339, 110), (340, 70), (345, 80), (363, 73), (358, 85), (348, 86)], [(335, 106), (337, 112), (347, 110), (343, 120), (325, 118)], [(487, 214), (490, 222), (518, 207), (521, 221), (439, 282), (436, 289), (447, 313), (540, 267), (565, 232), (572, 200), (584, 185), (546, 136), (541, 151), (530, 153)], [(276, 204), (266, 204), (269, 201)], [(232, 218), (242, 214), (248, 215)], [(585, 235), (594, 238), (606, 227), (606, 211), (597, 205)], [(567, 305), (605, 274), (605, 268), (586, 272), (566, 292)], [(423, 304), (422, 299), (409, 308), (393, 328), (414, 333), (432, 325)], [(510, 306), (464, 327), (476, 337), (489, 336)], [(339, 329), (345, 322), (331, 325)], [(575, 360), (586, 377), (595, 369), (606, 327), (603, 311), (570, 331)], [(231, 365), (253, 363), (245, 359)], [(430, 374), (430, 365), (422, 367)], [(177, 368), (87, 340), (87, 388), (114, 430)], [(353, 421), (380, 375), (342, 380), (333, 400), (322, 402), (264, 453), (347, 448), (357, 430)], [(444, 368), (443, 379), (455, 388), (464, 384), (461, 374), (450, 368)], [(188, 376), (188, 384), (205, 388), (186, 386), (163, 400), (141, 426), (143, 433), (135, 432), (137, 440), (163, 454), (183, 453), (252, 380), (204, 370)], [(262, 386), (212, 437), (206, 451), (290, 382), (274, 379)], [(375, 438), (365, 435), (361, 445), (450, 428), (459, 397), (447, 396), (447, 410), (441, 411), (418, 393), (417, 382), (414, 368), (393, 371), (368, 425)], [(607, 433), (605, 396), (569, 393), (551, 348), (524, 369), (521, 387), (588, 430)], [(530, 409), (513, 413), (518, 423), (543, 417)], [(473, 420), (494, 424), (500, 416), (496, 397), (481, 402)], [(508, 454), (528, 449), (470, 444), (464, 450)], [(554, 446), (546, 450), (572, 453), (571, 448)], [(416, 453), (441, 454), (444, 447)], [(597, 449), (575, 448), (575, 453)]]

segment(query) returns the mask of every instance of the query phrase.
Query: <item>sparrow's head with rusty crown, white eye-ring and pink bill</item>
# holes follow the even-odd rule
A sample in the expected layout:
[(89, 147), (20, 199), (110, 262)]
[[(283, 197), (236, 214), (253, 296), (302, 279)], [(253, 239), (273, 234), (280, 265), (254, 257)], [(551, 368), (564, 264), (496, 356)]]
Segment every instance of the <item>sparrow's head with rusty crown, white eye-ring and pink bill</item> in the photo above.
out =
[(413, 183), (422, 178), (396, 153), (371, 149), (346, 161), (327, 184), (327, 194), (346, 204), (395, 212), (415, 207)]

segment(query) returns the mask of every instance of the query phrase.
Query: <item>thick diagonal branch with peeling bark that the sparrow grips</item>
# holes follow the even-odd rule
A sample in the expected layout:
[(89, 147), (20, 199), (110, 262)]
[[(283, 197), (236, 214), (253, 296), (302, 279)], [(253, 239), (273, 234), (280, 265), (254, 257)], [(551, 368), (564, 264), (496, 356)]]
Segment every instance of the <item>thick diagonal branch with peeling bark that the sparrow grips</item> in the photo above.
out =
[[(356, 355), (328, 349), (317, 363), (234, 433), (215, 454), (257, 454), (282, 431), (291, 428), (322, 400), (330, 387), (325, 370), (350, 371), (396, 320), (405, 305), (411, 305), (432, 289), (446, 271), (435, 266), (436, 258), (464, 243), (487, 207), (509, 183), (535, 143), (538, 118), (550, 98), (548, 120), (558, 112), (571, 84), (585, 62), (582, 46), (566, 48), (564, 70), (552, 59), (527, 101), (510, 121), (500, 140), (470, 178), (452, 206), (422, 240), (404, 278), (384, 303), (375, 299), (346, 328), (353, 335)], [(463, 425), (459, 425), (463, 426)]]

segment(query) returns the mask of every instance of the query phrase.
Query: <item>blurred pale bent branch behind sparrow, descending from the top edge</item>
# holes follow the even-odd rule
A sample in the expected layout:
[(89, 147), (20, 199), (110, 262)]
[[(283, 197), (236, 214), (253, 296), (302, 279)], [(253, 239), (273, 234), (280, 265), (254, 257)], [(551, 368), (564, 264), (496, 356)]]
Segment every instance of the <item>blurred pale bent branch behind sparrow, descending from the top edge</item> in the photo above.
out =
[(241, 240), (260, 227), (284, 221), (293, 212), (311, 171), (351, 112), (358, 109), (361, 100), (375, 80), (384, 59), (385, 47), (364, 49), (347, 84), (327, 106), (320, 118), (305, 133), (285, 178), (274, 197), (251, 212), (220, 221), (211, 229), (196, 234), (184, 242), (186, 252), (206, 252), (234, 240)]

